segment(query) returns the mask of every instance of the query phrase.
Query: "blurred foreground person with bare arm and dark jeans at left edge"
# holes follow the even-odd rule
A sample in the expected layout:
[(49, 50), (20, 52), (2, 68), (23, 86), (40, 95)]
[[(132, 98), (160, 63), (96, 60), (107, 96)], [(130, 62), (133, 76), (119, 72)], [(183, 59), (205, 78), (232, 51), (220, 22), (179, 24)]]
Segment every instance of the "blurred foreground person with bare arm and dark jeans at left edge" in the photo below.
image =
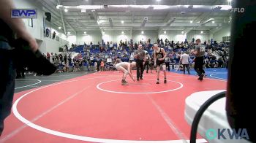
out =
[(15, 9), (12, 0), (1, 0), (0, 5), (0, 136), (4, 130), (4, 119), (10, 115), (15, 88), (14, 47), (11, 42), (15, 35), (29, 43), (32, 51), (37, 51), (36, 40), (29, 34), (21, 19), (11, 18)]

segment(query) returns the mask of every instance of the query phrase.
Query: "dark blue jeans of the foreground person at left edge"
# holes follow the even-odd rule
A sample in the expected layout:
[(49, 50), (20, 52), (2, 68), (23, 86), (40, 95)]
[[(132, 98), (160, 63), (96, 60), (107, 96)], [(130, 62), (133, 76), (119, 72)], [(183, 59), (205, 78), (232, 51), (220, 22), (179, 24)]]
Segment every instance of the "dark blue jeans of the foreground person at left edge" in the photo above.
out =
[(7, 50), (9, 44), (0, 41), (0, 136), (4, 119), (10, 115), (15, 88), (14, 52)]

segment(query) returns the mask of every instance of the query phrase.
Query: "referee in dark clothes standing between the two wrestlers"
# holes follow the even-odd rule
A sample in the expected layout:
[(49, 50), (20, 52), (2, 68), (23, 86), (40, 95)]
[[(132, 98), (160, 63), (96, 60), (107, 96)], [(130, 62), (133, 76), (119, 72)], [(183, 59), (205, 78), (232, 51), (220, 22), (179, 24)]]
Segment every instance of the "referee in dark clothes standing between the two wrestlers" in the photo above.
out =
[(146, 61), (146, 53), (145, 51), (142, 49), (142, 45), (138, 46), (138, 50), (135, 52), (134, 55), (135, 59), (136, 59), (136, 69), (137, 69), (137, 80), (143, 80), (143, 71), (144, 71), (144, 67), (143, 65), (145, 64)]

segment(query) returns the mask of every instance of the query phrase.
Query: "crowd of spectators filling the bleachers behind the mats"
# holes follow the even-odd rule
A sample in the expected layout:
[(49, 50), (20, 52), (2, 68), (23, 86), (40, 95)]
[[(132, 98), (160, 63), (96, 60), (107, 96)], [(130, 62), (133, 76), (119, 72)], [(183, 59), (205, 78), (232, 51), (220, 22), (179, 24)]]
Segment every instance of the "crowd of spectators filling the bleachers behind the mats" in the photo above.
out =
[[(165, 63), (167, 70), (174, 69), (182, 71), (182, 65), (180, 64), (180, 57), (182, 53), (189, 54), (189, 66), (193, 67), (194, 55), (190, 53), (195, 48), (195, 41), (191, 42), (173, 42), (168, 39), (162, 40), (157, 39), (159, 47), (164, 48), (167, 53)], [(116, 59), (121, 61), (132, 62), (134, 61), (134, 53), (138, 49), (138, 45), (143, 46), (143, 50), (148, 53), (150, 59), (149, 66), (153, 61), (153, 48), (151, 39), (146, 42), (135, 42), (132, 40), (117, 42), (97, 42), (93, 45), (92, 42), (89, 45), (74, 45), (72, 44), (69, 51), (61, 53), (46, 53), (44, 54), (51, 63), (57, 66), (56, 72), (67, 72), (67, 71), (105, 71), (114, 70)], [(228, 43), (217, 43), (217, 42), (204, 42), (203, 45), (206, 47), (205, 55), (205, 68), (227, 68), (228, 62)], [(65, 46), (65, 49), (67, 46)], [(147, 67), (148, 68), (148, 67)], [(152, 69), (152, 67), (150, 67)], [(24, 76), (25, 70), (18, 70), (18, 77)], [(36, 75), (36, 74), (35, 74)]]

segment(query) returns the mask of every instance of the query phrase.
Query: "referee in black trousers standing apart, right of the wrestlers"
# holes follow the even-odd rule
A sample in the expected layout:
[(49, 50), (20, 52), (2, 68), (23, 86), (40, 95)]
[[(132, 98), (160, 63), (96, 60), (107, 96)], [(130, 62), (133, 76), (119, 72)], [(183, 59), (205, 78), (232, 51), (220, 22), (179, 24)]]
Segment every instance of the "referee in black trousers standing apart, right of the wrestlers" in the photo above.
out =
[(195, 46), (195, 50), (192, 53), (195, 54), (195, 71), (199, 75), (198, 80), (203, 80), (203, 74), (205, 71), (203, 70), (203, 60), (205, 55), (205, 47), (201, 45), (201, 40), (197, 39), (195, 41), (197, 45)]

